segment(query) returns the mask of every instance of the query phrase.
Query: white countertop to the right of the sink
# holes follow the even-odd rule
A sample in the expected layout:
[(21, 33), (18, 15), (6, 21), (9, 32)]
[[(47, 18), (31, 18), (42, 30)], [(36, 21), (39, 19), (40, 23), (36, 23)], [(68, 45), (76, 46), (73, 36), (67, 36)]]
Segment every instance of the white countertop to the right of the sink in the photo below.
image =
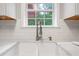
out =
[(79, 56), (79, 42), (61, 42), (58, 44), (71, 56)]

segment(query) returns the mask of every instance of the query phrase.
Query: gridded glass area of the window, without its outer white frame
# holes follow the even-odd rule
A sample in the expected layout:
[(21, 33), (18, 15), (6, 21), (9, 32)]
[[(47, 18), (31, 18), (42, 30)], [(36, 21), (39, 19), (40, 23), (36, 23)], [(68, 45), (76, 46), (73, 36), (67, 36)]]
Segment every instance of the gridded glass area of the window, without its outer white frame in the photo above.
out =
[[(36, 21), (41, 21), (42, 25), (52, 25), (54, 17), (54, 3), (28, 3), (27, 4), (28, 25), (36, 25)], [(54, 18), (53, 18), (54, 19)]]

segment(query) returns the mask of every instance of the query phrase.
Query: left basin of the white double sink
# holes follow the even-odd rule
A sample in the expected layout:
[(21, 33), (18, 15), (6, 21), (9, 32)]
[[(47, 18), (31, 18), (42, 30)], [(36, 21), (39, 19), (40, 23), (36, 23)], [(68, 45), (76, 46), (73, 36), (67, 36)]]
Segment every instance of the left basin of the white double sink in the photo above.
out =
[(19, 45), (20, 56), (35, 56), (36, 55), (36, 44), (35, 43), (20, 43)]

